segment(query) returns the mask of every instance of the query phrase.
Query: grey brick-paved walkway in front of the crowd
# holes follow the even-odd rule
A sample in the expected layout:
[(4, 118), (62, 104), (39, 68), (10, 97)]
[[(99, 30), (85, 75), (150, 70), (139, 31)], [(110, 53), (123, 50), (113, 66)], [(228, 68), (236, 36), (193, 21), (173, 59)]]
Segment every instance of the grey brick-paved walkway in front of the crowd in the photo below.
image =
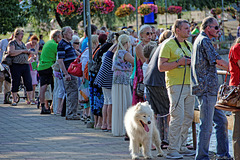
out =
[[(36, 105), (26, 105), (23, 101), (18, 106), (2, 103), (0, 94), (0, 159), (131, 159), (129, 142), (123, 137), (87, 128), (82, 121), (40, 115)], [(152, 154), (154, 159), (166, 159), (156, 157), (156, 151)], [(184, 159), (193, 160), (194, 156)]]

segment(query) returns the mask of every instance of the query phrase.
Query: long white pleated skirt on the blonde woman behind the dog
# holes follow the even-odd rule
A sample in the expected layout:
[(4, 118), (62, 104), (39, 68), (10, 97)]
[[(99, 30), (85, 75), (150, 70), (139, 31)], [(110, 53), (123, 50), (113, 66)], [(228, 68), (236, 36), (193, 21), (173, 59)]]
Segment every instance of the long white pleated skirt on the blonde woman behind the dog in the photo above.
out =
[(123, 124), (127, 109), (132, 105), (130, 85), (112, 85), (112, 134), (124, 136), (126, 131)]

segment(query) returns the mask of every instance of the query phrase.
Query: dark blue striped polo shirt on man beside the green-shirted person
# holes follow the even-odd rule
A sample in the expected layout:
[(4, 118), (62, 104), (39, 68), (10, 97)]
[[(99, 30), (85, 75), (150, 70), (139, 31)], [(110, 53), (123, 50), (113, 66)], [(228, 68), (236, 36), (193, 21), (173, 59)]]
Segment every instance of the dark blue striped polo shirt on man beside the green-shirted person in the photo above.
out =
[(77, 58), (77, 54), (72, 44), (62, 39), (58, 43), (57, 57), (58, 59), (63, 59), (64, 65), (68, 69), (70, 64)]

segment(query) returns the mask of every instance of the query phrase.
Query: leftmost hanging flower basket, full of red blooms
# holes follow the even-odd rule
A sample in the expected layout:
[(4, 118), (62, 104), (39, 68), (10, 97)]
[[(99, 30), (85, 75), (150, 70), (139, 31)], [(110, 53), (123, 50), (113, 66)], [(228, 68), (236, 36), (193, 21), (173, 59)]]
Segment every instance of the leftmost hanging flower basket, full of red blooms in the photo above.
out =
[(73, 2), (65, 1), (59, 2), (57, 5), (57, 13), (65, 16), (71, 15), (75, 11)]

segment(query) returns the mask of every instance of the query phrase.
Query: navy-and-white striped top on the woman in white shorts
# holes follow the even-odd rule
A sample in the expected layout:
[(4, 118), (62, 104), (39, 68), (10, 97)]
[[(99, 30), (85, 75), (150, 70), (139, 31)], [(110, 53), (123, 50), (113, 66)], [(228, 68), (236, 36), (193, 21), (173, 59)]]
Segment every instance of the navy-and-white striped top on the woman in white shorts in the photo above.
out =
[(105, 54), (105, 58), (103, 59), (102, 65), (94, 83), (98, 84), (101, 87), (112, 89), (112, 58), (114, 53), (111, 51), (107, 51)]

